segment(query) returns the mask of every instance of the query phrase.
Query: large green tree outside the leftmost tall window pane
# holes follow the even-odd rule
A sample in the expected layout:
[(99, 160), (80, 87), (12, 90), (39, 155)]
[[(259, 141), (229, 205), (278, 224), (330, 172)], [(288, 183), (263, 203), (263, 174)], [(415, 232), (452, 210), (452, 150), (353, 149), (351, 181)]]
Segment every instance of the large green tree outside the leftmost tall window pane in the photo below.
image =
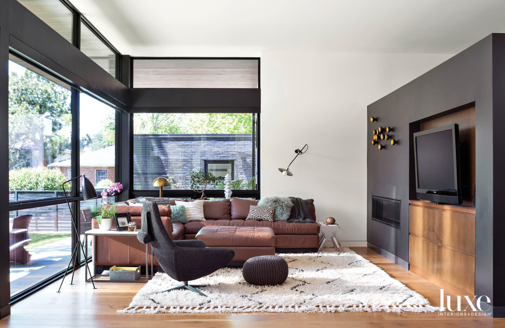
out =
[[(70, 147), (70, 91), (26, 70), (9, 76), (9, 169), (51, 163)], [(36, 158), (43, 162), (34, 163)]]

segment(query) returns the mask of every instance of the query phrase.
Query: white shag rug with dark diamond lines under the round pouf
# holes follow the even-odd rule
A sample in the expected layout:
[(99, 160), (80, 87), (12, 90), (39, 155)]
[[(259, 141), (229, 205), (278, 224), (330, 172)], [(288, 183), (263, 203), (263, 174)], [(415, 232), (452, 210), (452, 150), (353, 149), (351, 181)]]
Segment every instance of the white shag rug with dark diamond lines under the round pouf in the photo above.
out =
[(289, 266), (287, 280), (277, 286), (245, 282), (241, 267), (225, 267), (189, 282), (208, 297), (189, 290), (160, 293), (179, 283), (158, 273), (121, 313), (208, 312), (433, 312), (419, 293), (391, 278), (354, 251), (336, 253), (280, 253)]

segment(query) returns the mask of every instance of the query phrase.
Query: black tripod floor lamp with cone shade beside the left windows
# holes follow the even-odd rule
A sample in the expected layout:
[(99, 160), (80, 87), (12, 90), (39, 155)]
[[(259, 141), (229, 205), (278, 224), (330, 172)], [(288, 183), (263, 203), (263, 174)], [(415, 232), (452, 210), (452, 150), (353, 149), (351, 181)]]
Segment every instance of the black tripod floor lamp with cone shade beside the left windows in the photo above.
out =
[[(65, 270), (65, 275), (63, 275), (62, 283), (60, 284), (60, 288), (58, 288), (57, 293), (60, 293), (60, 289), (62, 288), (63, 281), (65, 280), (65, 276), (67, 275), (67, 272), (70, 270), (70, 265), (72, 264), (72, 262), (74, 263), (74, 270), (72, 271), (72, 280), (70, 281), (70, 285), (74, 284), (74, 273), (75, 273), (76, 260), (78, 257), (77, 255), (79, 254), (79, 248), (82, 250), (82, 254), (84, 256), (86, 256), (84, 253), (84, 247), (82, 246), (79, 231), (77, 230), (77, 227), (75, 226), (74, 214), (72, 212), (72, 209), (70, 208), (70, 203), (68, 202), (67, 192), (65, 191), (65, 183), (68, 183), (72, 180), (78, 179), (81, 176), (83, 177), (83, 179), (82, 179), (82, 198), (85, 201), (94, 200), (95, 198), (98, 198), (98, 195), (96, 194), (96, 190), (94, 189), (93, 184), (91, 183), (91, 181), (88, 180), (88, 178), (86, 178), (84, 176), (84, 174), (76, 176), (75, 178), (65, 181), (62, 184), (63, 193), (65, 194), (65, 200), (67, 201), (68, 209), (70, 210), (70, 216), (72, 217), (72, 220), (71, 220), (72, 227), (74, 228), (75, 235), (77, 236), (77, 243), (75, 244), (74, 251), (72, 252), (72, 257), (70, 257), (70, 262), (68, 263), (67, 270)], [(79, 187), (79, 185), (77, 185), (77, 187)], [(87, 258), (84, 259), (84, 264), (86, 265), (86, 270), (89, 272), (89, 275), (92, 277), (91, 271), (89, 270)], [(94, 286), (93, 278), (91, 278), (91, 283), (93, 284), (93, 289), (96, 289), (96, 287)]]

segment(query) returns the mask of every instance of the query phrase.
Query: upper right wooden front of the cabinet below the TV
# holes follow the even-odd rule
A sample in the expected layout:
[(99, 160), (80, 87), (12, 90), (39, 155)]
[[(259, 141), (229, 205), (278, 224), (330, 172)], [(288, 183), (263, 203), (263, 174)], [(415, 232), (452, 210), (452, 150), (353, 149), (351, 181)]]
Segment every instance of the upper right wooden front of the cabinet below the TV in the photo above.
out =
[(463, 213), (439, 211), (437, 242), (475, 254), (475, 217)]

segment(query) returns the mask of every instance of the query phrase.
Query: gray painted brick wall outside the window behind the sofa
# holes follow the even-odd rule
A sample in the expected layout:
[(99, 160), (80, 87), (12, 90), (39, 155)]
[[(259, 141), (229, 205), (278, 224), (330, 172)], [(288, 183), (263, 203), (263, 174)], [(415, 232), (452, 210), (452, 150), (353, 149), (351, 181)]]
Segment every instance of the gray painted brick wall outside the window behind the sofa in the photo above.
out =
[(235, 180), (248, 181), (254, 165), (252, 135), (133, 135), (133, 187), (158, 189), (151, 184), (163, 176), (171, 177), (168, 189), (189, 190), (189, 172), (204, 171), (205, 160), (233, 160)]

